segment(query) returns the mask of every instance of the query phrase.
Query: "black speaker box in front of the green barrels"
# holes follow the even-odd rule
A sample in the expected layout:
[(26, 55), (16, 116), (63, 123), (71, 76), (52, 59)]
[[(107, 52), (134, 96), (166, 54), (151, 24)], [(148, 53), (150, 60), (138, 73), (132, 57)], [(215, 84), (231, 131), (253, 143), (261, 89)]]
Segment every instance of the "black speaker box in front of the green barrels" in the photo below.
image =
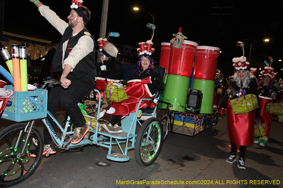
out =
[(202, 106), (202, 99), (203, 99), (202, 91), (194, 90), (194, 89), (188, 91), (187, 101), (186, 101), (187, 107), (185, 112), (191, 114), (200, 113), (200, 109)]

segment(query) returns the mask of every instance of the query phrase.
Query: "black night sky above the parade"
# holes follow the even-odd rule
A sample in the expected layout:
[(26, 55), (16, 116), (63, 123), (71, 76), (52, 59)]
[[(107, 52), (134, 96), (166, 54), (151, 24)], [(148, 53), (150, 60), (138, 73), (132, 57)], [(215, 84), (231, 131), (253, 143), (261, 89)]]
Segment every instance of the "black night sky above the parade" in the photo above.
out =
[[(71, 0), (41, 2), (67, 21)], [(99, 38), (102, 3), (102, 0), (85, 0), (83, 3), (92, 12), (86, 27), (96, 39)], [(155, 53), (160, 54), (160, 43), (169, 42), (173, 38), (172, 34), (182, 27), (187, 40), (221, 49), (218, 67), (224, 75), (229, 75), (233, 71), (232, 58), (242, 55), (241, 47), (236, 46), (237, 41), (245, 44), (245, 56), (248, 59), (251, 44), (268, 38), (269, 42), (258, 41), (253, 44), (250, 67), (263, 69), (264, 60), (271, 56), (274, 59), (273, 67), (283, 77), (283, 71), (280, 70), (283, 62), (278, 61), (283, 60), (282, 5), (283, 2), (279, 0), (109, 0), (106, 35), (108, 32), (119, 32), (119, 38), (109, 37), (108, 41), (137, 48), (139, 42), (151, 39), (152, 30), (146, 25), (153, 23), (153, 19), (144, 10), (134, 11), (133, 7), (136, 6), (155, 14)], [(219, 13), (221, 15), (217, 15)], [(61, 38), (29, 0), (5, 1), (4, 31), (10, 24), (19, 26), (19, 29), (25, 25), (53, 42), (58, 42)]]

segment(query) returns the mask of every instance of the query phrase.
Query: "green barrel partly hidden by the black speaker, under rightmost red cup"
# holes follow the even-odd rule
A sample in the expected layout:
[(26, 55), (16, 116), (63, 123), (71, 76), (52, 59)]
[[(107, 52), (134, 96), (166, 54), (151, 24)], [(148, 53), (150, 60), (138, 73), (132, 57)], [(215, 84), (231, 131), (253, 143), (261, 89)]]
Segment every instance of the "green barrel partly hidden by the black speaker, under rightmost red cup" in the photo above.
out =
[(214, 81), (194, 79), (192, 89), (203, 94), (201, 113), (213, 113)]

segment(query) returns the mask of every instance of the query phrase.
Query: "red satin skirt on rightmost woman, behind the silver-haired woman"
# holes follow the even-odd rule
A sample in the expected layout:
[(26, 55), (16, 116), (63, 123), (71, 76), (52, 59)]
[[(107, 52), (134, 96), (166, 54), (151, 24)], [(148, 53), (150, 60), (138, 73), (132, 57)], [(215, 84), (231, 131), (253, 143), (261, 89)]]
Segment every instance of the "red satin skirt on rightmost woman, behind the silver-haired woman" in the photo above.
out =
[(265, 136), (269, 136), (270, 133), (270, 125), (272, 122), (272, 118), (273, 115), (266, 113), (266, 104), (272, 102), (272, 99), (268, 99), (266, 98), (261, 98), (259, 97), (259, 119), (261, 121), (261, 123), (265, 124), (265, 131), (266, 131), (266, 135)]

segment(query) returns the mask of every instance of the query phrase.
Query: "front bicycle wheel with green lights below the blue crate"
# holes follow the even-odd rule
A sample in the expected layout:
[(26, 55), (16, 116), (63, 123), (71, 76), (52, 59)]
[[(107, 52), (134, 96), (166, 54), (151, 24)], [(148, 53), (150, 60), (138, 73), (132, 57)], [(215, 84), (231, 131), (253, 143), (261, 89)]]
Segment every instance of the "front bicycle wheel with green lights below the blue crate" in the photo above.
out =
[[(42, 135), (33, 127), (30, 137), (26, 138), (26, 125), (17, 123), (0, 132), (0, 187), (9, 187), (26, 180), (42, 159)], [(21, 155), (26, 139), (28, 142)]]

